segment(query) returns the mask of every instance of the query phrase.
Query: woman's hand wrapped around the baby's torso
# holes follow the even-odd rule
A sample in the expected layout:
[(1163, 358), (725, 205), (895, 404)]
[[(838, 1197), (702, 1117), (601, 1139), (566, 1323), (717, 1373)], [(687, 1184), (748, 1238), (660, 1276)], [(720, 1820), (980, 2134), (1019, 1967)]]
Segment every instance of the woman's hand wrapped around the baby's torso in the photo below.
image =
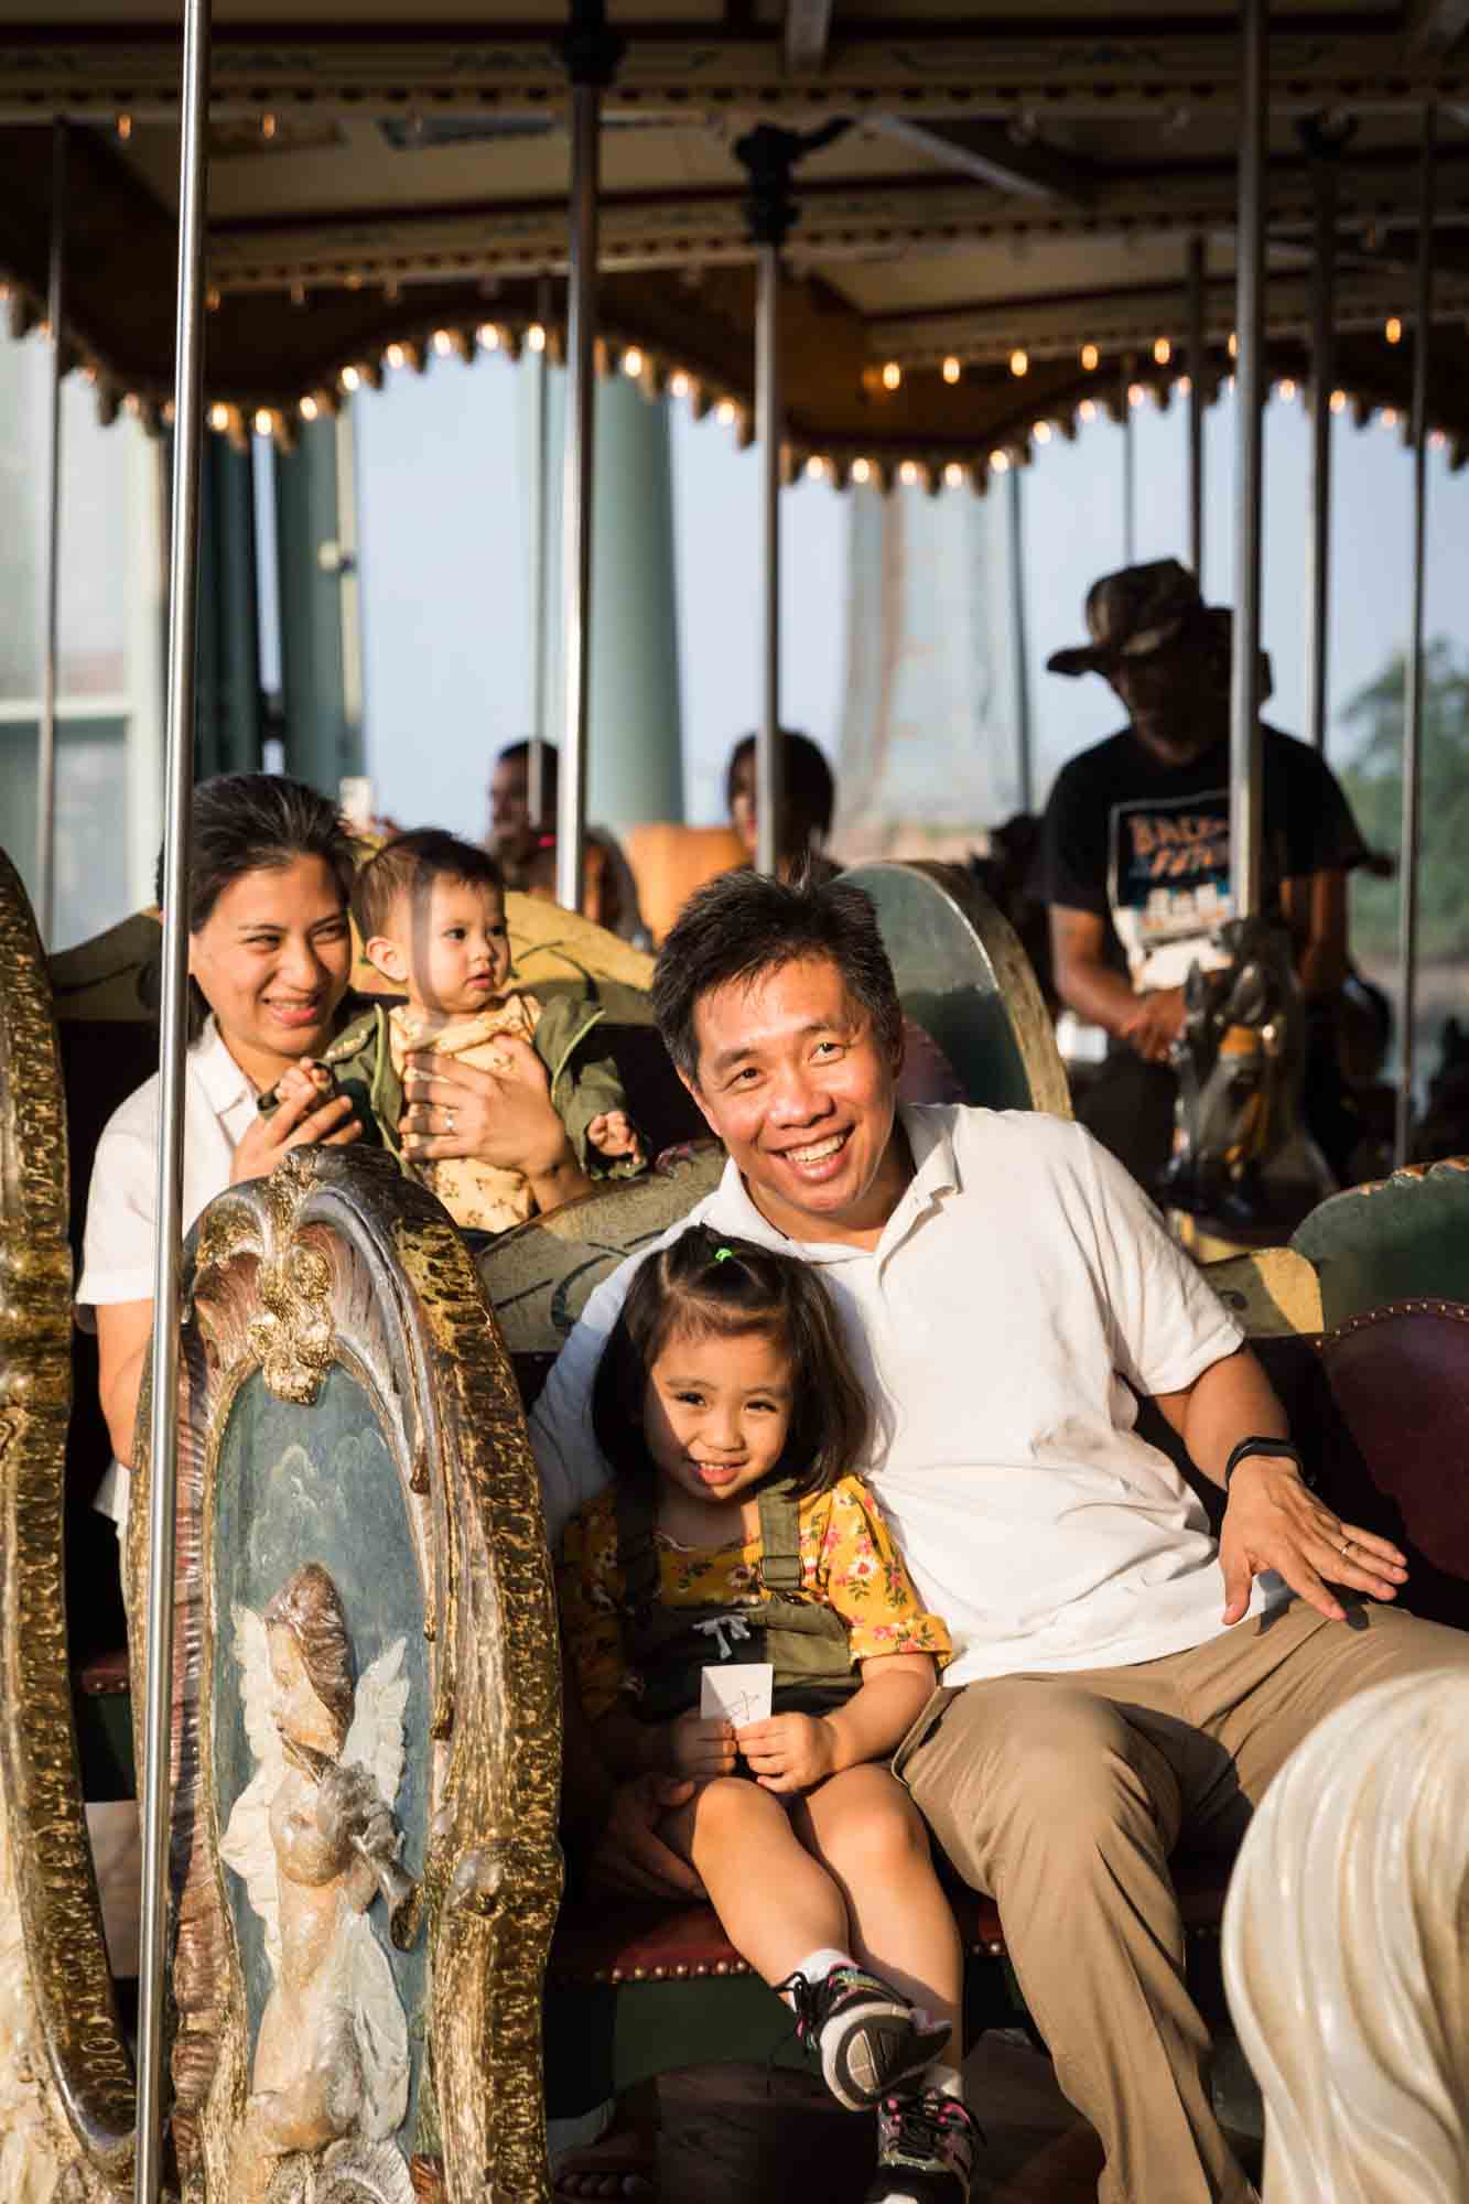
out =
[(452, 1056), (417, 1049), (408, 1058), (399, 1120), (410, 1164), (474, 1157), (496, 1170), (521, 1170), (543, 1210), (589, 1190), (567, 1128), (551, 1106), (547, 1069), (521, 1034), (496, 1034), (501, 1071), (476, 1071)]

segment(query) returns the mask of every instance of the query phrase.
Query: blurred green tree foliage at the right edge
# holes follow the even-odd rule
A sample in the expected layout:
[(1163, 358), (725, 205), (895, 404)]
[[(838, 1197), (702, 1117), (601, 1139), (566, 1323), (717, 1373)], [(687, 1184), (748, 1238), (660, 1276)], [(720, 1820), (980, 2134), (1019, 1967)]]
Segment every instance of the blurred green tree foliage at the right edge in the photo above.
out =
[[(1361, 745), (1341, 771), (1357, 824), (1376, 851), (1401, 855), (1403, 655), (1345, 707)], [(1438, 637), (1423, 663), (1423, 855), (1418, 954), (1469, 957), (1469, 663)], [(1398, 882), (1352, 875), (1352, 948), (1363, 957), (1398, 941)]]

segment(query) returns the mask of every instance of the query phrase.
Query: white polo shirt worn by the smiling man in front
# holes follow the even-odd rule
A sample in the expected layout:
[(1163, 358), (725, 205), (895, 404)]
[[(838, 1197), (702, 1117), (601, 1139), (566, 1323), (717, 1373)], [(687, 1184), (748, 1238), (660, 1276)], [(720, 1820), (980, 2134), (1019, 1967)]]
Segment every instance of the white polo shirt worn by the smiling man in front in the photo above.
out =
[[(926, 1607), (946, 1684), (1105, 1668), (1222, 1629), (1204, 1510), (1138, 1437), (1244, 1333), (1158, 1212), (1081, 1126), (907, 1106), (913, 1181), (876, 1250), (787, 1241), (730, 1164), (693, 1223), (816, 1263), (878, 1411), (867, 1474)], [(532, 1415), (547, 1532), (607, 1481), (591, 1380), (637, 1263), (596, 1289)], [(1127, 1382), (1125, 1382), (1127, 1380)], [(1257, 1580), (1253, 1611), (1275, 1591)]]

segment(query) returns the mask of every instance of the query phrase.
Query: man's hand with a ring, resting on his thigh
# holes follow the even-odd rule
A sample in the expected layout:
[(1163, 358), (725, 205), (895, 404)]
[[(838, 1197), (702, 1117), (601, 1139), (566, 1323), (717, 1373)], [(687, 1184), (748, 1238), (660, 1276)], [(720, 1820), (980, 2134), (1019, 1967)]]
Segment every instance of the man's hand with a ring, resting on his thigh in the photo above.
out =
[(1240, 1622), (1251, 1605), (1251, 1580), (1275, 1569), (1293, 1591), (1332, 1622), (1345, 1609), (1328, 1591), (1350, 1585), (1372, 1600), (1396, 1600), (1407, 1580), (1407, 1563), (1396, 1545), (1376, 1532), (1341, 1523), (1295, 1468), (1273, 1455), (1246, 1455), (1229, 1483), (1229, 1505), (1220, 1530), (1224, 1567), (1224, 1620)]

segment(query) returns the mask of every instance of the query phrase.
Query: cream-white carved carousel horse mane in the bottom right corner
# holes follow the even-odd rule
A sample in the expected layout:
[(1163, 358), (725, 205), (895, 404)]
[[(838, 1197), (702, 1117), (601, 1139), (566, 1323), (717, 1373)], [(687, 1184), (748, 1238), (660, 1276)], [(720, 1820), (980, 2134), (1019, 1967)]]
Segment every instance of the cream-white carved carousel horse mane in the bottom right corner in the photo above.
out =
[(1266, 2204), (1469, 2195), (1469, 1684), (1379, 1684), (1255, 1814), (1224, 1981), (1266, 2100)]

